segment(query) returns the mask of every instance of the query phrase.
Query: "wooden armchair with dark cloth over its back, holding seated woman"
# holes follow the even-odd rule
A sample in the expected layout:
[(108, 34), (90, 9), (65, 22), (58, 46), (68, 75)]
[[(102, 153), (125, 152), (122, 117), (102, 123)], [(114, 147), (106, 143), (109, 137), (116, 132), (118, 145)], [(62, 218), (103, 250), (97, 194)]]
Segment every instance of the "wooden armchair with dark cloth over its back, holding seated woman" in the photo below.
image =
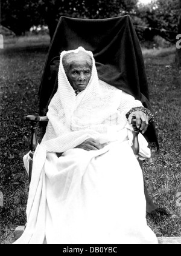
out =
[[(108, 47), (106, 42), (109, 44)], [(141, 100), (144, 107), (147, 107), (148, 109), (151, 108), (148, 95), (147, 78), (145, 75), (144, 59), (142, 58), (141, 47), (130, 16), (125, 15), (99, 20), (61, 17), (46, 56), (42, 81), (39, 88), (39, 116), (25, 116), (25, 120), (31, 124), (29, 182), (31, 182), (33, 155), (37, 144), (42, 140), (46, 124), (48, 123), (48, 118), (46, 116), (48, 104), (57, 90), (57, 72), (59, 69), (60, 52), (62, 52), (62, 50), (76, 49), (80, 45), (86, 50), (91, 50), (94, 53), (98, 76), (100, 79), (106, 81), (106, 83), (111, 84), (112, 86), (118, 87), (130, 95), (133, 95), (136, 99)], [(122, 54), (119, 52), (119, 49), (121, 49)], [(126, 60), (125, 67), (123, 67), (124, 78), (122, 80), (116, 80), (115, 83), (112, 84), (112, 67), (115, 63), (124, 66), (122, 59)], [(116, 69), (117, 68), (118, 66), (116, 66)], [(127, 87), (127, 84), (132, 84), (134, 86), (129, 88)], [(143, 170), (143, 161), (139, 157), (139, 130), (136, 127), (136, 120), (132, 120), (132, 125), (132, 149)], [(40, 127), (40, 131), (37, 129), (38, 127)], [(153, 137), (150, 138), (150, 133), (153, 133), (153, 137), (156, 138), (154, 124), (151, 124), (148, 127), (147, 132), (144, 134), (148, 141), (150, 139), (154, 140)], [(153, 200), (151, 200), (151, 197), (148, 195), (145, 182), (144, 193), (147, 203), (146, 212), (148, 214), (153, 217), (157, 217), (157, 213), (159, 215), (170, 215), (167, 210), (159, 208), (153, 203)], [(24, 228), (25, 226), (20, 226), (20, 229), (17, 227), (17, 232), (15, 231), (15, 233), (17, 233), (18, 237), (22, 232), (24, 232)]]

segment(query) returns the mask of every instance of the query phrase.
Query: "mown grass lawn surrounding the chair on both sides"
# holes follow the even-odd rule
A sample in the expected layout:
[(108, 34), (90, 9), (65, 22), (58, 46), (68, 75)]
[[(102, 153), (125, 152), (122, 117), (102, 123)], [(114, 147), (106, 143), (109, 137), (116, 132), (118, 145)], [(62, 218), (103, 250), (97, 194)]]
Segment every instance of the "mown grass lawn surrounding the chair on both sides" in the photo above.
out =
[[(26, 222), (28, 176), (22, 157), (28, 152), (30, 126), (24, 121), (24, 116), (38, 111), (37, 92), (48, 45), (49, 37), (46, 35), (25, 36), (4, 38), (4, 49), (0, 49), (1, 244), (12, 243), (15, 227)], [(147, 217), (147, 221), (158, 237), (179, 237), (181, 74), (173, 66), (174, 47), (142, 51), (160, 144), (159, 154), (145, 163), (144, 175), (156, 205), (167, 207), (171, 212), (171, 217), (157, 221)]]

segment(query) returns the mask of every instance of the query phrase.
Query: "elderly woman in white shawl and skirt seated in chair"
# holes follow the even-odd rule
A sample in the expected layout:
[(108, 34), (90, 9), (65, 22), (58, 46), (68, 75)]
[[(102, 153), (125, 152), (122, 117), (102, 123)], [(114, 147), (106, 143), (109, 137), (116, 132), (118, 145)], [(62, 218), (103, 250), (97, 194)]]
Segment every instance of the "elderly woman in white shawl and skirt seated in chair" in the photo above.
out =
[[(61, 53), (59, 86), (34, 154), (27, 227), (16, 243), (157, 243), (131, 147), (133, 115), (144, 133), (147, 109), (98, 79), (92, 52)], [(139, 143), (139, 154), (150, 157), (141, 133)], [(28, 161), (27, 154), (27, 171)]]

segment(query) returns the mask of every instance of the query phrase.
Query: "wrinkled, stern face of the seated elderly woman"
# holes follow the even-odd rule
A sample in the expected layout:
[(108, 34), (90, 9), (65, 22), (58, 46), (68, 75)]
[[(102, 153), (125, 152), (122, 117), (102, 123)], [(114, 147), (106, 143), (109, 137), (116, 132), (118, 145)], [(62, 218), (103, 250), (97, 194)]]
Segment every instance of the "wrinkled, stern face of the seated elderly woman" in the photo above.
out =
[(66, 73), (69, 83), (74, 89), (80, 92), (86, 89), (91, 76), (91, 69), (86, 59), (80, 58), (76, 62), (73, 61)]

